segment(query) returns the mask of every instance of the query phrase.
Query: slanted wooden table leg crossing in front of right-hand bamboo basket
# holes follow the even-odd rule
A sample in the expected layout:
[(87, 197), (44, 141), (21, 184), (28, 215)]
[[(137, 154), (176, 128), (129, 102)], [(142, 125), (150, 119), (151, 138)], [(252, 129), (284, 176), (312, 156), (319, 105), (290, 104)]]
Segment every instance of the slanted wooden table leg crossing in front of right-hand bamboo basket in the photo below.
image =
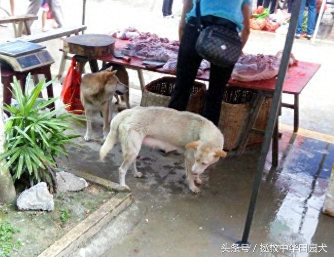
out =
[(242, 136), (241, 136), (240, 143), (239, 143), (238, 150), (237, 150), (238, 155), (241, 155), (244, 149), (246, 148), (249, 136), (255, 125), (257, 116), (260, 112), (260, 109), (261, 109), (261, 106), (264, 100), (265, 100), (265, 95), (262, 92), (259, 92), (252, 106), (251, 113), (249, 115), (248, 124), (244, 128), (244, 131), (241, 131)]

